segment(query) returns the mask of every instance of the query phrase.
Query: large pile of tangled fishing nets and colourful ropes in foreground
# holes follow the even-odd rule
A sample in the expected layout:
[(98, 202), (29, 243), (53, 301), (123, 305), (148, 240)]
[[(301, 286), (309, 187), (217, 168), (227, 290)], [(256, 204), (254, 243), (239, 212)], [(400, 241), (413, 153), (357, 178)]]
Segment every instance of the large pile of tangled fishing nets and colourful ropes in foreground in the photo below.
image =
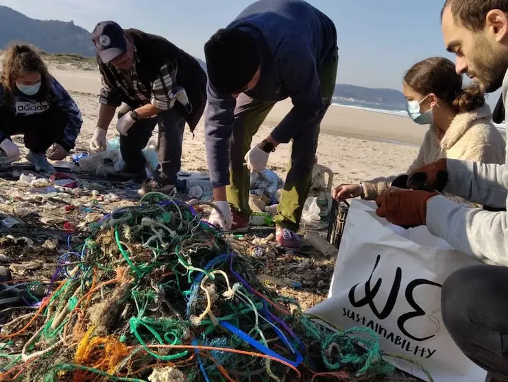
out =
[(193, 207), (160, 194), (106, 216), (60, 262), (42, 301), (2, 312), (1, 381), (379, 381), (394, 371), (369, 329), (319, 326), (264, 288)]

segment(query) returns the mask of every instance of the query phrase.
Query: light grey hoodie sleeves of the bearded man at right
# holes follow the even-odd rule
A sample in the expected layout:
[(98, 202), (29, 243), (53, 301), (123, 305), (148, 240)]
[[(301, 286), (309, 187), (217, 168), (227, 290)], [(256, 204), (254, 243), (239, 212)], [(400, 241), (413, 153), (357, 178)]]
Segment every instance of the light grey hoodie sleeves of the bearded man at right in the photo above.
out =
[[(508, 71), (503, 99), (508, 110)], [(508, 113), (505, 115), (505, 123)], [(473, 203), (505, 208), (508, 205), (508, 152), (505, 164), (447, 160), (446, 192)], [(488, 212), (435, 196), (427, 203), (427, 227), (459, 251), (489, 264), (508, 266), (508, 212)]]

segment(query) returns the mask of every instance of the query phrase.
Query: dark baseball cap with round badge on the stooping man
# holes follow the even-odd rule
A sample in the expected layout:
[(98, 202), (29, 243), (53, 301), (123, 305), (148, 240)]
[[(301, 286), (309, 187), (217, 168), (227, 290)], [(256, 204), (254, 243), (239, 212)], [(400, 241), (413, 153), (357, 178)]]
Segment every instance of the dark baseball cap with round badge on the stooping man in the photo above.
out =
[(108, 63), (127, 51), (125, 32), (114, 21), (101, 21), (92, 32), (92, 40), (99, 57)]

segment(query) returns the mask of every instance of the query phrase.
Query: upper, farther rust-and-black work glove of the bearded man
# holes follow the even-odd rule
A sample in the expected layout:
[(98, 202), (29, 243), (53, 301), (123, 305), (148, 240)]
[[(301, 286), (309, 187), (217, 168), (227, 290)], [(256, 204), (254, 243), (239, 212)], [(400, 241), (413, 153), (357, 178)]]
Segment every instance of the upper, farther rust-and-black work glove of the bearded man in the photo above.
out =
[(428, 192), (443, 192), (447, 181), (446, 159), (441, 159), (413, 171), (407, 179), (407, 188)]

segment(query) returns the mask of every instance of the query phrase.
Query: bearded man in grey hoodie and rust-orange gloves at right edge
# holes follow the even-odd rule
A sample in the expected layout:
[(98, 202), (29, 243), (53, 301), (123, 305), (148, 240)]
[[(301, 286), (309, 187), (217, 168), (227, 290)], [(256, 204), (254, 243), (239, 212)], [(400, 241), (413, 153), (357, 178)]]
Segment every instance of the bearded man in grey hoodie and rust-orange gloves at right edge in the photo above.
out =
[[(457, 73), (468, 75), (485, 92), (503, 87), (506, 108), (508, 1), (447, 0), (442, 29), (446, 49), (456, 55)], [(461, 269), (442, 290), (443, 320), (450, 335), (465, 355), (489, 372), (488, 381), (508, 381), (507, 162), (439, 160), (409, 177), (408, 188), (418, 191), (391, 190), (376, 200), (379, 216), (397, 225), (427, 225), (455, 249), (496, 264)], [(500, 211), (459, 205), (439, 192)]]

